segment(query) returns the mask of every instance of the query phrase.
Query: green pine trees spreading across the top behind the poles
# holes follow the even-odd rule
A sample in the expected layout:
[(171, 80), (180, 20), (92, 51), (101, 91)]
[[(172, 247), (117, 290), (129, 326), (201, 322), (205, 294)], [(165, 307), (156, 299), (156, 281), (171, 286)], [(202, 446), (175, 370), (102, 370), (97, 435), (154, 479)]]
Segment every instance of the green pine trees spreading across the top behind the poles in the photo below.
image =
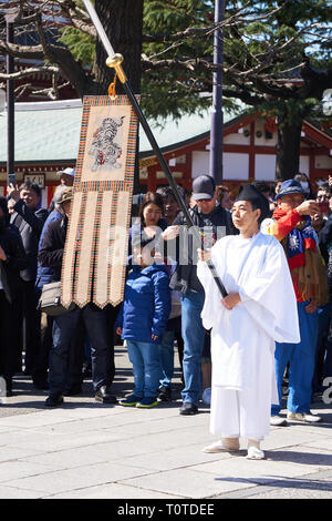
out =
[[(27, 3), (40, 9), (40, 2)], [(61, 6), (63, 17), (72, 20), (60, 30), (62, 47), (14, 49), (15, 55), (43, 52), (81, 96), (106, 92), (113, 73), (101, 43), (86, 30), (82, 1), (42, 3)], [(277, 176), (291, 177), (299, 170), (303, 119), (323, 116), (321, 101), (332, 88), (332, 1), (225, 0), (225, 6), (222, 31), (219, 28), (225, 110), (241, 101), (278, 118)], [(214, 1), (95, 0), (95, 7), (115, 52), (124, 55), (124, 70), (142, 94), (147, 116), (179, 119), (210, 105)], [(7, 52), (1, 38), (0, 48)]]

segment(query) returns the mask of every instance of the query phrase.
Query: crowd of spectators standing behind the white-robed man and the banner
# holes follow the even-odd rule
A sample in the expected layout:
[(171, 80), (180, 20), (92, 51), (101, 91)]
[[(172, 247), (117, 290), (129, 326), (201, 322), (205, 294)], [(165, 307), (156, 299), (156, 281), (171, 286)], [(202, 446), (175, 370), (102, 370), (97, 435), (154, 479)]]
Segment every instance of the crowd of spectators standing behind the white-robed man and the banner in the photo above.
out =
[[(209, 251), (222, 236), (243, 234), (236, 217), (241, 200), (227, 186), (216, 186), (209, 175), (196, 177), (191, 193), (179, 187), (199, 231), (197, 242), (170, 187), (142, 195), (129, 229), (122, 305), (101, 309), (91, 299), (83, 308), (52, 317), (42, 314), (38, 303), (43, 287), (61, 279), (74, 170), (65, 168), (59, 177), (48, 210), (40, 205), (35, 184), (10, 185), (7, 198), (0, 197), (0, 375), (8, 396), (14, 376), (23, 370), (35, 388), (49, 391), (45, 406), (56, 407), (63, 396), (82, 392), (83, 378), (91, 375), (97, 401), (156, 407), (174, 398), (176, 346), (183, 378), (179, 413), (196, 415), (203, 398), (209, 402), (212, 374), (211, 330), (203, 318), (205, 257), (199, 252)], [(278, 399), (270, 421), (284, 423), (280, 409), (287, 381), (289, 418), (319, 421), (310, 412), (312, 396), (322, 392), (324, 378), (332, 376), (332, 174), (318, 190), (305, 174), (251, 186), (261, 196), (261, 231), (277, 237), (286, 254), (300, 331), (300, 343), (274, 338)], [(287, 308), (282, 286), (274, 297)], [(232, 309), (238, 302), (224, 305)], [(134, 374), (133, 392), (122, 399), (112, 386), (118, 337)]]

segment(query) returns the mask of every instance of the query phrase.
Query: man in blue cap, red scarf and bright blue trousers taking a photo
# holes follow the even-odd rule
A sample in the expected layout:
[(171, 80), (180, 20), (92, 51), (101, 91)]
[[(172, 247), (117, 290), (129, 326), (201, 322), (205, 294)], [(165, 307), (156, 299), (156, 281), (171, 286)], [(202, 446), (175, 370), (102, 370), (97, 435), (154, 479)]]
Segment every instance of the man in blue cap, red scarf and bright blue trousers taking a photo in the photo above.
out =
[[(281, 242), (291, 273), (297, 297), (300, 343), (277, 343), (276, 375), (279, 399), (272, 406), (271, 425), (286, 425), (281, 410), (282, 380), (289, 364), (289, 421), (317, 422), (320, 417), (310, 412), (312, 378), (318, 338), (318, 306), (329, 300), (325, 269), (318, 248), (318, 236), (311, 217), (320, 213), (315, 201), (304, 201), (305, 194), (295, 180), (287, 180), (277, 194), (278, 207), (272, 219), (262, 223), (262, 229)], [(280, 292), (278, 292), (280, 294)], [(282, 297), (282, 294), (280, 294)], [(288, 306), (288, 304), (287, 304)]]

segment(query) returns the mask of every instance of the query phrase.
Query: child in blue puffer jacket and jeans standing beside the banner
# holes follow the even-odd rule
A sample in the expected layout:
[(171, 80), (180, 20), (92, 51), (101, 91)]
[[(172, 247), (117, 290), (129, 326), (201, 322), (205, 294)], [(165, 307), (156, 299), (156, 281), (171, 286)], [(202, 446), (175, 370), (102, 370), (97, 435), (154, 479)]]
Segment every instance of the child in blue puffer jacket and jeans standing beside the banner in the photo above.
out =
[(170, 313), (167, 268), (154, 263), (155, 252), (149, 243), (152, 239), (141, 241), (133, 247), (133, 269), (126, 279), (116, 320), (116, 333), (127, 344), (135, 384), (134, 392), (120, 405), (138, 408), (158, 405), (159, 344)]

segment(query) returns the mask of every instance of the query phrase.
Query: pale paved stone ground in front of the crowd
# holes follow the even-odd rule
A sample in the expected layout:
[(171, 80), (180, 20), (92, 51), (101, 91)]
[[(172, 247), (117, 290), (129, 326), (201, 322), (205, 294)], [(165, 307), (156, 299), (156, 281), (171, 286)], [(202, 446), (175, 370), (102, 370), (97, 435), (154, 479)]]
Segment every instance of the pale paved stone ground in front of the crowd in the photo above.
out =
[[(116, 367), (122, 397), (133, 389), (123, 347)], [(250, 461), (243, 442), (236, 454), (201, 451), (216, 438), (209, 409), (178, 415), (179, 372), (176, 401), (151, 410), (96, 403), (89, 380), (61, 408), (45, 409), (45, 397), (21, 376), (0, 406), (0, 498), (332, 498), (332, 407), (321, 401), (321, 423), (271, 428), (267, 459)]]

